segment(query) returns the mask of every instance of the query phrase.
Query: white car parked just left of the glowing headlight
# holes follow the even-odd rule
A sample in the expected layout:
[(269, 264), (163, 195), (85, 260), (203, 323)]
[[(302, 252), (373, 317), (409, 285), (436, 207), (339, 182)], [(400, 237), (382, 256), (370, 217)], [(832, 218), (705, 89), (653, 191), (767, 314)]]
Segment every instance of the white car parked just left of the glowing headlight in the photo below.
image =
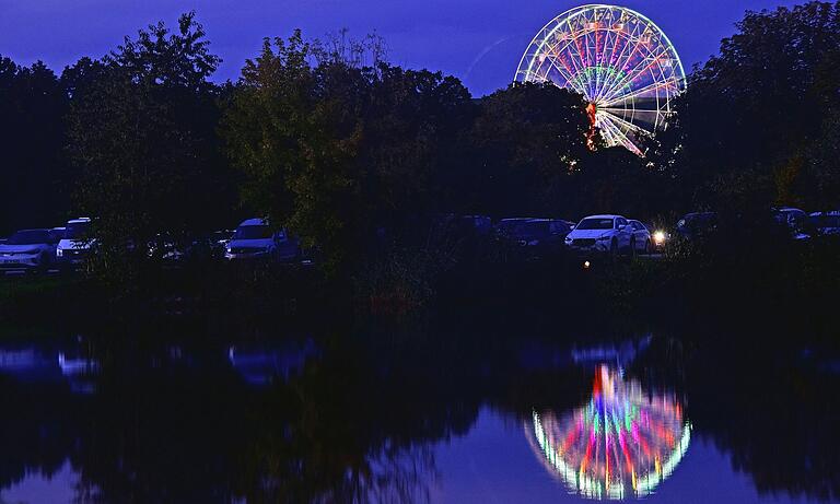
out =
[(565, 245), (579, 253), (610, 253), (638, 247), (633, 228), (621, 215), (590, 215), (565, 237)]

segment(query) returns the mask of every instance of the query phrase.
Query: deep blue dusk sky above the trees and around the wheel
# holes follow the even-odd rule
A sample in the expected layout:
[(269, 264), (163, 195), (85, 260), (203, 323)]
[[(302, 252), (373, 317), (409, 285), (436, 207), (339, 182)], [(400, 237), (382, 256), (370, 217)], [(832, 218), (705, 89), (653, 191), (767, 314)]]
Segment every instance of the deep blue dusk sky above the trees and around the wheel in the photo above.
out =
[[(351, 36), (377, 33), (392, 62), (460, 78), (474, 95), (513, 79), (530, 38), (570, 0), (0, 0), (0, 55), (22, 65), (38, 59), (59, 72), (82, 56), (101, 57), (125, 35), (159, 20), (175, 26), (195, 10), (212, 50), (224, 62), (219, 81), (235, 80), (265, 36), (300, 27), (320, 37), (342, 27)], [(745, 10), (793, 4), (784, 0), (626, 0), (670, 38), (688, 71), (716, 52)]]

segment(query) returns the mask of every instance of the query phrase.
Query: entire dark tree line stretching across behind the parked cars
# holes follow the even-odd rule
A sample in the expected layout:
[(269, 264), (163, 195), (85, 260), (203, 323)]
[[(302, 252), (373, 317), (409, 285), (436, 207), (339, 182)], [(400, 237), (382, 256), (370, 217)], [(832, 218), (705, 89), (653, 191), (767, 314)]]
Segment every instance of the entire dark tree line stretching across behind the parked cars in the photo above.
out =
[(830, 208), (838, 28), (832, 3), (747, 13), (645, 157), (587, 149), (571, 92), (512, 85), (476, 99), (453, 77), (389, 65), (375, 37), (266, 39), (225, 84), (210, 81), (220, 59), (192, 13), (61, 75), (3, 58), (0, 231), (84, 213), (121, 250), (257, 214), (339, 267), (382, 230), (448, 212)]

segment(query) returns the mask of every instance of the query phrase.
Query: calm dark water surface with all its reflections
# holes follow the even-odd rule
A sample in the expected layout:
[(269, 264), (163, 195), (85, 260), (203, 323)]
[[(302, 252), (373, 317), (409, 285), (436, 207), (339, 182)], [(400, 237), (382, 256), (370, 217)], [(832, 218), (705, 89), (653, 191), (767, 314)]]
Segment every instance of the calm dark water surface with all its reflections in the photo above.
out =
[(840, 495), (840, 361), (806, 345), (128, 333), (3, 340), (0, 502)]

